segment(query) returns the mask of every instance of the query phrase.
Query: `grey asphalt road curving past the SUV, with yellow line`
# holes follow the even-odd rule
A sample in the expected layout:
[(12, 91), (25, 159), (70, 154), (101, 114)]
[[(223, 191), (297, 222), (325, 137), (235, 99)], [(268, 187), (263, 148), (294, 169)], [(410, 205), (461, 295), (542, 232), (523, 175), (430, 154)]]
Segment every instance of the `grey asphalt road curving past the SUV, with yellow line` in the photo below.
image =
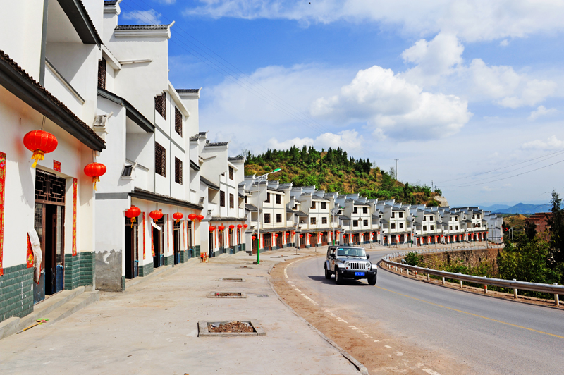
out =
[[(372, 263), (390, 250), (370, 251)], [(440, 350), (476, 374), (563, 374), (564, 312), (429, 285), (379, 269), (366, 281), (336, 285), (323, 277), (324, 258), (288, 268), (313, 300), (379, 324), (413, 345)], [(361, 327), (359, 327), (361, 328)], [(362, 329), (362, 328), (361, 328)]]

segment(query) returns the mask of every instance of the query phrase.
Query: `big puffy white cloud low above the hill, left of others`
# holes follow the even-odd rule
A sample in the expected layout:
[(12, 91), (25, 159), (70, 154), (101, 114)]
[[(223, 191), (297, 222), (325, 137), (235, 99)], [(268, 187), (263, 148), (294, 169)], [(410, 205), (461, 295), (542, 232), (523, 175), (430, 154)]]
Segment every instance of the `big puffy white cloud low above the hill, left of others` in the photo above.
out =
[(312, 114), (338, 122), (365, 121), (375, 135), (398, 140), (453, 135), (472, 116), (459, 97), (423, 92), (380, 66), (360, 70), (339, 94), (317, 99)]

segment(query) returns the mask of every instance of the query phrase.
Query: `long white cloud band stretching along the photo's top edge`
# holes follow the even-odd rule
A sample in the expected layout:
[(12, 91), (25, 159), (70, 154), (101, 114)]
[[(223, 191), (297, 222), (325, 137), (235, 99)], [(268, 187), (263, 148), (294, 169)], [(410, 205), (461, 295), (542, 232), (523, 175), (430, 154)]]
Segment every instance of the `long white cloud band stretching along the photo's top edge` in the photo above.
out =
[(564, 29), (564, 4), (553, 0), (200, 0), (187, 15), (271, 18), (301, 23), (378, 22), (412, 35), (441, 30), (463, 40), (526, 37)]

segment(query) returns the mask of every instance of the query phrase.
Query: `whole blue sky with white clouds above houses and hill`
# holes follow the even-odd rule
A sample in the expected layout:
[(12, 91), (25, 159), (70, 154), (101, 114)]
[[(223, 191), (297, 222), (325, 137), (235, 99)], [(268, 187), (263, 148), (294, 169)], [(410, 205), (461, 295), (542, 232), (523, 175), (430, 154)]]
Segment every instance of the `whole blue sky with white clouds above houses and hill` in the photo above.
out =
[(123, 0), (229, 154), (341, 147), (450, 205), (564, 194), (564, 1)]

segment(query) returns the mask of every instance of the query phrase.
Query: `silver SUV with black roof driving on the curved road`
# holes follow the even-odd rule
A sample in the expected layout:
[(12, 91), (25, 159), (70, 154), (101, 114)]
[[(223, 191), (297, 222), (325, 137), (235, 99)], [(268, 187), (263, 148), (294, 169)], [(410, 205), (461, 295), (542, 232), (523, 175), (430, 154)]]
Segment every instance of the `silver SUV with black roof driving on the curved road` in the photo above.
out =
[(367, 260), (369, 258), (362, 247), (329, 246), (325, 258), (325, 278), (329, 280), (335, 274), (338, 284), (342, 284), (345, 278), (367, 278), (369, 285), (376, 285), (378, 269)]

